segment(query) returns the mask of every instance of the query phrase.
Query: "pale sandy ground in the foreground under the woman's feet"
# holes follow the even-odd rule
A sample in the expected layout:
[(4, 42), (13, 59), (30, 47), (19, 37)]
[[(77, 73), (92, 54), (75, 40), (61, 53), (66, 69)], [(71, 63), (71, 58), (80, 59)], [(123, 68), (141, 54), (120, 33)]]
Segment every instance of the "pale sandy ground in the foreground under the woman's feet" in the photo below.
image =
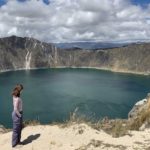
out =
[(113, 138), (87, 124), (28, 126), (22, 145), (11, 147), (12, 132), (0, 134), (0, 150), (150, 150), (150, 129)]

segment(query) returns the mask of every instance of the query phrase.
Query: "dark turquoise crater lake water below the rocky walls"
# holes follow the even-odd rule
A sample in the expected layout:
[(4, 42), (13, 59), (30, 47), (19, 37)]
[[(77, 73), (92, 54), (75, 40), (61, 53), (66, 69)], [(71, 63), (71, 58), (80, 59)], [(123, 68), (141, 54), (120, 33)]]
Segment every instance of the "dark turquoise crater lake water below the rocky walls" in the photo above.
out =
[(78, 115), (94, 119), (127, 118), (135, 102), (150, 90), (150, 77), (95, 69), (39, 69), (0, 74), (0, 124), (11, 127), (15, 84), (22, 83), (24, 119), (42, 123)]

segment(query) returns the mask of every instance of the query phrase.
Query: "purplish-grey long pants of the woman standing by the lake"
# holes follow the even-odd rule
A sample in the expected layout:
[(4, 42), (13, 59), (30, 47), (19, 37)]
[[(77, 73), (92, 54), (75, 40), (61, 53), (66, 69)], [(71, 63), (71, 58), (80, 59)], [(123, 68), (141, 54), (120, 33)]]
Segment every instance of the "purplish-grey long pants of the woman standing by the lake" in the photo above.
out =
[(12, 147), (16, 146), (21, 140), (21, 131), (22, 131), (22, 121), (23, 116), (18, 117), (16, 112), (12, 112), (13, 120), (13, 134), (12, 134)]

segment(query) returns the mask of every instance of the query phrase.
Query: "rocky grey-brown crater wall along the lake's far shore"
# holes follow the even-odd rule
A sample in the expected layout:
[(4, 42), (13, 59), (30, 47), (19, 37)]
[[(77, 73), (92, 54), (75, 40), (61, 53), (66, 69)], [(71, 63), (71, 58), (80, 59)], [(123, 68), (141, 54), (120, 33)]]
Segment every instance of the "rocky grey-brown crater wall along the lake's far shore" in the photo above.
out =
[(60, 49), (28, 37), (0, 39), (0, 72), (17, 69), (90, 67), (150, 74), (150, 43), (107, 50)]

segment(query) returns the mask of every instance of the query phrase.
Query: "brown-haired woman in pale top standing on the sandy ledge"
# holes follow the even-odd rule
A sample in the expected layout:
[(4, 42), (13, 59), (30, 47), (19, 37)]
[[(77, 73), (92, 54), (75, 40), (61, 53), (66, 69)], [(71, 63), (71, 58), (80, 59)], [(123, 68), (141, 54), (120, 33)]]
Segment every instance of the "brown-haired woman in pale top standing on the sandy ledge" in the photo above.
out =
[(21, 140), (21, 131), (22, 131), (22, 122), (23, 122), (23, 111), (22, 111), (22, 99), (20, 98), (20, 93), (23, 90), (23, 85), (18, 84), (13, 89), (13, 134), (12, 134), (12, 147), (15, 147), (20, 143)]

